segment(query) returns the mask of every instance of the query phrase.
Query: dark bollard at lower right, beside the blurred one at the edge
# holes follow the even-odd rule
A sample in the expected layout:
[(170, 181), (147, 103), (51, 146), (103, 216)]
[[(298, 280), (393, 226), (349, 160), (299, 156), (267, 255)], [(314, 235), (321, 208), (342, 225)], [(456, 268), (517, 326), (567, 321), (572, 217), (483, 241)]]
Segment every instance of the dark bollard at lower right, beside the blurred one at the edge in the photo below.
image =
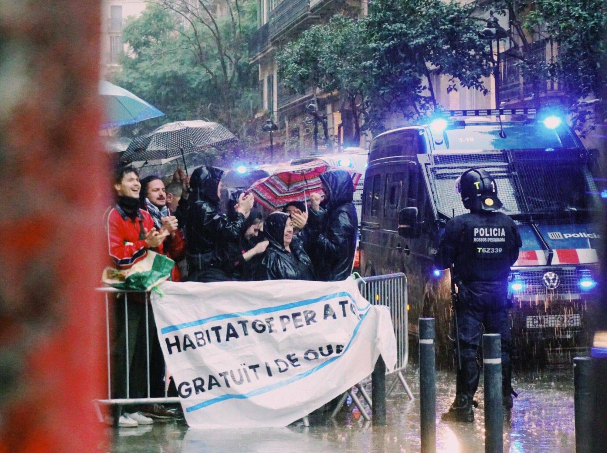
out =
[(573, 359), (575, 387), (575, 452), (590, 453), (592, 439), (591, 364), (589, 357)]

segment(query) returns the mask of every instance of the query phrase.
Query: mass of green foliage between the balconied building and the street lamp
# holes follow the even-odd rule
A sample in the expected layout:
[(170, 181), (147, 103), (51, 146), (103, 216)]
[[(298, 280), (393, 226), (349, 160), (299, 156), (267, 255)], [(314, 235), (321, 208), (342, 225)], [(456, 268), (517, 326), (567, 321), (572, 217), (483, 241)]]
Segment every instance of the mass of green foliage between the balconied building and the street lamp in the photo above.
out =
[(334, 16), (287, 44), (279, 78), (300, 92), (338, 90), (374, 131), (388, 115), (420, 118), (437, 107), (432, 74), (449, 75), (447, 92), (487, 93), (492, 58), (472, 13), (473, 5), (456, 1), (373, 0), (367, 17)]

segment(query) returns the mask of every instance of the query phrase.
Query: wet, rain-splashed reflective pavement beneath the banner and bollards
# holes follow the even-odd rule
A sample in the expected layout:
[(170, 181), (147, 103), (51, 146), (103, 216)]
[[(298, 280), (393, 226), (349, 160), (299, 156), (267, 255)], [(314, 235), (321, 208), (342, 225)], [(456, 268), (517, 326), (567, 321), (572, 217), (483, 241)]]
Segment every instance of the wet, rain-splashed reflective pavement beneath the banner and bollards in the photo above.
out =
[[(418, 376), (405, 377), (417, 397)], [(444, 423), (440, 412), (453, 399), (455, 375), (439, 372), (436, 378), (437, 451), (483, 452), (483, 382), (474, 423)], [(569, 371), (525, 373), (514, 381), (519, 392), (509, 420), (504, 418), (504, 451), (575, 451), (573, 374)], [(387, 426), (373, 427), (358, 412), (345, 410), (336, 420), (311, 417), (311, 426), (297, 422), (289, 427), (201, 431), (188, 429), (183, 420), (137, 428), (107, 429), (108, 444), (100, 452), (418, 452), (419, 404), (397, 386), (387, 401)]]

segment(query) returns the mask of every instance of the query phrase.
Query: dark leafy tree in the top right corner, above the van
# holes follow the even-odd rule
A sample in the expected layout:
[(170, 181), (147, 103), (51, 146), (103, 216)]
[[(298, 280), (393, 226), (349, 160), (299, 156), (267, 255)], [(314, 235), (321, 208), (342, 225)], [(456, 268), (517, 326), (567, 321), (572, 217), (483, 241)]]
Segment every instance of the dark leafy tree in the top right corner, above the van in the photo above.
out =
[[(535, 106), (540, 107), (540, 87), (558, 83), (561, 100), (572, 114), (574, 127), (584, 133), (600, 114), (584, 100), (602, 100), (605, 75), (603, 38), (607, 33), (607, 6), (602, 0), (497, 0), (486, 9), (506, 16), (514, 44), (510, 55), (524, 78), (531, 80)], [(545, 40), (552, 49), (547, 60), (534, 55), (532, 42)], [(592, 121), (588, 121), (591, 120)], [(603, 120), (604, 121), (604, 120)]]

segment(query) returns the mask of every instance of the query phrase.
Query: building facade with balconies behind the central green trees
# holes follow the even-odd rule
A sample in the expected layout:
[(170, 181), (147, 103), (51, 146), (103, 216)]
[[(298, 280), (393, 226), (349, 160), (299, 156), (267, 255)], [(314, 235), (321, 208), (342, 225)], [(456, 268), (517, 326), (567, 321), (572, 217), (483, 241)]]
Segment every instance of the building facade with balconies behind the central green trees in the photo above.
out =
[[(297, 39), (300, 33), (313, 24), (328, 21), (335, 13), (341, 12), (352, 17), (367, 13), (367, 0), (258, 0), (258, 28), (249, 45), (249, 63), (259, 70), (259, 84), (262, 92), (263, 109), (260, 115), (272, 117), (279, 125), (274, 134), (275, 144), (284, 146), (285, 157), (296, 157), (314, 152), (313, 115), (315, 94), (308, 90), (305, 94), (288, 92), (277, 76), (276, 52), (285, 43)], [(433, 78), (436, 98), (446, 109), (488, 109), (495, 107), (495, 97), (484, 96), (481, 92), (459, 89), (447, 94), (447, 79)], [(495, 80), (489, 77), (486, 86), (495, 90)], [(370, 135), (363, 134), (361, 140), (354, 139), (353, 114), (350, 107), (322, 93), (316, 93), (318, 115), (326, 122), (330, 143), (365, 148)], [(400, 123), (399, 123), (400, 121)], [(387, 120), (388, 128), (402, 125), (402, 118)], [(324, 128), (319, 125), (319, 142), (324, 143)], [(354, 143), (356, 141), (356, 143)], [(325, 152), (327, 146), (319, 146)]]

